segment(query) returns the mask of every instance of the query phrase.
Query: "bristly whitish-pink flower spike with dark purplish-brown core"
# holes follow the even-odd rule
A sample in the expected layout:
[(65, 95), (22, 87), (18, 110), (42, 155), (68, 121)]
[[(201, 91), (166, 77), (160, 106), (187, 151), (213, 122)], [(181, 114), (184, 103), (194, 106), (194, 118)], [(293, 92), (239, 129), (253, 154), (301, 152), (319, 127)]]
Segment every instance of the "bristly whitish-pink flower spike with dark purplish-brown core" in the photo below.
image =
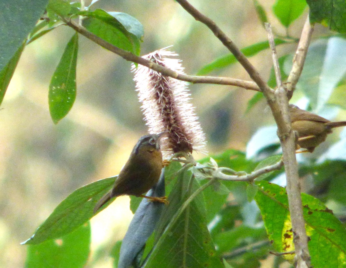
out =
[[(174, 56), (177, 54), (163, 48), (143, 58), (184, 73), (180, 60), (172, 58)], [(162, 141), (164, 157), (178, 152), (202, 151), (206, 144), (205, 135), (189, 102), (191, 98), (187, 83), (163, 76), (143, 65), (138, 68), (133, 65), (132, 68), (149, 133), (168, 133), (167, 138)]]

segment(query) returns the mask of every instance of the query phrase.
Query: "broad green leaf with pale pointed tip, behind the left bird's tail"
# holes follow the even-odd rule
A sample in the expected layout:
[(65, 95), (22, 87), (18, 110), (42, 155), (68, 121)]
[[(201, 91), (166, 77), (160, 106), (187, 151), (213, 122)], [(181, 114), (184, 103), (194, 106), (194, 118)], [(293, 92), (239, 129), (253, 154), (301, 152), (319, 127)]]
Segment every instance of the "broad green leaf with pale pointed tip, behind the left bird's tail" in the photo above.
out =
[[(78, 188), (67, 196), (49, 215), (48, 219), (37, 228), (33, 236), (22, 244), (39, 244), (48, 239), (61, 237), (90, 220), (94, 216), (93, 210), (96, 203), (111, 189), (116, 178), (117, 176), (100, 179)], [(102, 209), (106, 208), (108, 204), (110, 202)]]

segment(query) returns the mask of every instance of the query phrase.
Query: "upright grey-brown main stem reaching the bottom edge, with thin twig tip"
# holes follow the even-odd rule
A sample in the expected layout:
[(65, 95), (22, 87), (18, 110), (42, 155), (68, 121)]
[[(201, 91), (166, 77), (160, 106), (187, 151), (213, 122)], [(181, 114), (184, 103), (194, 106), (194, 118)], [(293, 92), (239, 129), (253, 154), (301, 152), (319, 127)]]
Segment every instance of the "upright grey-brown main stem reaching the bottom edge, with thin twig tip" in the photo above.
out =
[[(270, 25), (268, 25), (270, 27)], [(273, 38), (272, 32), (268, 31), (268, 39)], [(272, 50), (275, 50), (275, 45), (271, 44)], [(276, 53), (273, 52), (273, 64), (277, 64)], [(275, 58), (276, 57), (276, 58)], [(276, 72), (275, 72), (276, 74)], [(281, 77), (276, 77), (276, 80), (281, 79)], [(288, 108), (288, 97), (287, 92), (283, 88), (282, 83), (278, 83), (278, 88), (275, 91), (275, 96), (277, 103), (281, 108), (282, 118), (287, 125), (288, 132), (280, 132), (278, 136), (280, 138), (282, 147), (282, 156), (285, 166), (285, 173), (287, 179), (287, 197), (289, 203), (289, 210), (293, 229), (293, 242), (295, 248), (295, 260), (296, 267), (305, 268), (310, 267), (310, 254), (308, 249), (308, 237), (305, 229), (305, 221), (303, 218), (301, 191), (300, 191), (300, 181), (298, 175), (298, 164), (295, 159), (295, 133), (291, 131), (291, 119)], [(283, 135), (284, 134), (284, 135)]]

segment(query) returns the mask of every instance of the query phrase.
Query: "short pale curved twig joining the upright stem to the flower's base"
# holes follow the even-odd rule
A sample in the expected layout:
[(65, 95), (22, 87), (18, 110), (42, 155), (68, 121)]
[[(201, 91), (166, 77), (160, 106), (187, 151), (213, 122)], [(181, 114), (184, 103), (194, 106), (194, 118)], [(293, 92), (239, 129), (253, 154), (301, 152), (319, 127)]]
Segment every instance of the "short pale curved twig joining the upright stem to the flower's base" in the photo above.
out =
[(224, 172), (227, 171), (226, 168), (223, 167), (219, 167), (218, 169), (215, 170), (215, 172), (212, 173), (213, 178), (216, 179), (221, 179), (224, 181), (237, 181), (237, 182), (252, 182), (255, 178), (274, 171), (274, 170), (279, 170), (281, 167), (283, 166), (283, 161), (280, 160), (279, 162), (275, 163), (274, 165), (271, 166), (267, 166), (264, 168), (260, 168), (257, 169), (253, 172), (251, 172), (250, 174), (246, 174), (246, 175), (226, 175)]

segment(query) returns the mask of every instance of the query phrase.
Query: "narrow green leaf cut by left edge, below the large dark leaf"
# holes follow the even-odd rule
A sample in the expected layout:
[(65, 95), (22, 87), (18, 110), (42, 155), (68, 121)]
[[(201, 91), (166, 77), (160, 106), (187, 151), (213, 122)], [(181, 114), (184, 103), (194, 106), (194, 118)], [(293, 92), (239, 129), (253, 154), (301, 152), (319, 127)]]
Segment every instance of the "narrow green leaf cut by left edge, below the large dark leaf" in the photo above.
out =
[[(2, 39), (6, 39), (6, 38), (2, 38)], [(25, 47), (25, 43), (23, 43), (18, 48), (15, 55), (13, 55), (13, 57), (6, 64), (6, 66), (0, 71), (0, 105), (2, 103), (3, 97), (5, 96), (7, 87), (10, 84), (13, 73), (16, 70), (20, 55), (21, 55), (24, 47)]]

